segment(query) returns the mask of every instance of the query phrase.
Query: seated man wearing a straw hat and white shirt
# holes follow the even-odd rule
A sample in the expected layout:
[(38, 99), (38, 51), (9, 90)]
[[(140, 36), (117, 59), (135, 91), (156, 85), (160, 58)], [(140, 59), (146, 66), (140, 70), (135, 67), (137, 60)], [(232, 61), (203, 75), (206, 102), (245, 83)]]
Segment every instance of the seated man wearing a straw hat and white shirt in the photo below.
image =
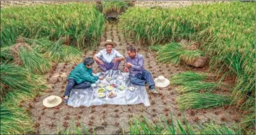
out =
[(106, 49), (102, 49), (98, 54), (94, 56), (94, 61), (101, 67), (101, 70), (118, 70), (120, 61), (125, 59), (122, 54), (117, 50), (113, 49), (117, 45), (111, 40), (106, 40), (101, 42), (102, 46), (105, 46)]

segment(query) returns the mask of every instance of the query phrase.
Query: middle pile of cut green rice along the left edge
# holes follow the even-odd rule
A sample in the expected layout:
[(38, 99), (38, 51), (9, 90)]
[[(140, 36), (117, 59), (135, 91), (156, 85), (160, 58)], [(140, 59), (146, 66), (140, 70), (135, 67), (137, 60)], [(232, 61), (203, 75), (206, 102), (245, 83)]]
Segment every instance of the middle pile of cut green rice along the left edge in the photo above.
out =
[[(1, 101), (19, 104), (29, 100), (45, 88), (42, 77), (13, 64), (1, 65)], [(12, 102), (10, 102), (12, 101)]]

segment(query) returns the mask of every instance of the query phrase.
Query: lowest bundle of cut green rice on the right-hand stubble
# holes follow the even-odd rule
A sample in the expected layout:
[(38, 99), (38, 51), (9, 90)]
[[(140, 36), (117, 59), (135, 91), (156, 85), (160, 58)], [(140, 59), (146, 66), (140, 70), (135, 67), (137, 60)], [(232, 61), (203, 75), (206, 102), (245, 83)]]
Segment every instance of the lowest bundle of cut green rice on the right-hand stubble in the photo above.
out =
[(214, 95), (211, 93), (186, 93), (177, 98), (180, 109), (206, 109), (209, 107), (225, 106), (232, 100), (230, 96)]

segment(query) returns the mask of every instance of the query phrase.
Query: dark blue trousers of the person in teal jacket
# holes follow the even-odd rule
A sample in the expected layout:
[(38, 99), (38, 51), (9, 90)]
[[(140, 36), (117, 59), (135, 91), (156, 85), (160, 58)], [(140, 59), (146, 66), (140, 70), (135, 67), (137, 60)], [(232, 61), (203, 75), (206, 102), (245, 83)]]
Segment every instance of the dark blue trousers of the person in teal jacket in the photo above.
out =
[(91, 83), (88, 81), (83, 81), (81, 84), (77, 84), (75, 79), (68, 79), (68, 84), (66, 84), (66, 90), (64, 93), (64, 96), (69, 96), (71, 93), (71, 90), (73, 88), (76, 89), (83, 89), (83, 88), (90, 88)]

